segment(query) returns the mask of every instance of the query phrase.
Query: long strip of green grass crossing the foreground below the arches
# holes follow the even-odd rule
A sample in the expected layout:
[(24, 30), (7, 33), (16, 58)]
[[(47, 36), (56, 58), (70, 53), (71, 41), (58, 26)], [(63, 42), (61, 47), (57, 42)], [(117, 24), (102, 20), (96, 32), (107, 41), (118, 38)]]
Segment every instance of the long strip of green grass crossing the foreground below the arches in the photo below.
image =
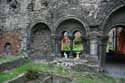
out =
[(52, 66), (48, 64), (35, 63), (27, 63), (14, 70), (0, 73), (0, 83), (15, 78), (16, 76), (26, 73), (29, 70), (69, 77), (75, 81), (74, 83), (125, 83), (125, 79), (114, 79), (99, 73), (85, 75), (63, 66)]

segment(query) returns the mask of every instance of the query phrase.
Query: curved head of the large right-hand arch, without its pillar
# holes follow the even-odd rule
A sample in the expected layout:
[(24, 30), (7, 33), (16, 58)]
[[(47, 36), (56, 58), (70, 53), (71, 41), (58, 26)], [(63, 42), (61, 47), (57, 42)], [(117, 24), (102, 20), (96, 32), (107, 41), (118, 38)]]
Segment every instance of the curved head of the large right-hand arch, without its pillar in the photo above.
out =
[(116, 7), (104, 19), (103, 24), (101, 26), (104, 35), (106, 35), (108, 33), (108, 31), (113, 26), (125, 24), (125, 20), (124, 20), (125, 10), (124, 10), (124, 8), (125, 8), (125, 4)]

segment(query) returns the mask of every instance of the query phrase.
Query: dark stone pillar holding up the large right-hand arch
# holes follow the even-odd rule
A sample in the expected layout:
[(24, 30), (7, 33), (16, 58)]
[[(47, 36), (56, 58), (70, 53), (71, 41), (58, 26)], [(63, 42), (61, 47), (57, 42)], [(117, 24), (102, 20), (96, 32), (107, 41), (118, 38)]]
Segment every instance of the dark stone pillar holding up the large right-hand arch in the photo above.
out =
[(100, 43), (99, 43), (99, 66), (100, 71), (103, 71), (103, 67), (105, 64), (105, 58), (106, 58), (106, 46), (107, 46), (107, 40), (108, 36), (101, 36), (99, 37)]

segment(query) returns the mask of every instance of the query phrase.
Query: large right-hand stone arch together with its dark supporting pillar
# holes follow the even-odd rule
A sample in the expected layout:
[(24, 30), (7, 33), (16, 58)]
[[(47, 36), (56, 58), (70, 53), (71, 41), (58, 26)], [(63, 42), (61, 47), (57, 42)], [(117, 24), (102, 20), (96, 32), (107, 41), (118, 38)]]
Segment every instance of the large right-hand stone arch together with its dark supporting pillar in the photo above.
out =
[(105, 64), (106, 58), (106, 46), (108, 42), (108, 33), (111, 29), (117, 26), (125, 25), (125, 4), (116, 7), (114, 10), (109, 13), (109, 15), (105, 18), (102, 24), (103, 37), (102, 37), (102, 50), (101, 50), (101, 66), (103, 67)]

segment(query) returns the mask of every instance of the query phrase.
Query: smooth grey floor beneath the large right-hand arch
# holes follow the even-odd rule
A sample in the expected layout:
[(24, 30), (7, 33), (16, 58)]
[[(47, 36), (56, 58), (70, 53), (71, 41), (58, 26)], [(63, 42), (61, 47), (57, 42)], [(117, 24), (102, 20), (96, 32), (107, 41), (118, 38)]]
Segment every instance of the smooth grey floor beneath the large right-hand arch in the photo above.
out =
[(106, 63), (104, 70), (109, 76), (125, 78), (125, 63)]

